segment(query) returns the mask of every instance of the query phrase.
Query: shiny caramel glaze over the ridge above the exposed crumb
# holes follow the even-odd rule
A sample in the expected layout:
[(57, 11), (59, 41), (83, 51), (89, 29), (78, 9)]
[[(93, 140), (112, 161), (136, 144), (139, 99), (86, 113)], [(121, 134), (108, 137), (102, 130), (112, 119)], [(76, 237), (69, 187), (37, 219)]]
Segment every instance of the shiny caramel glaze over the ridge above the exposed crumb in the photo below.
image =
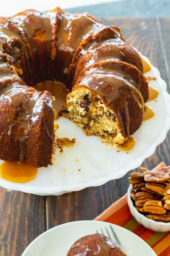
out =
[[(141, 117), (143, 117), (143, 96), (140, 92), (140, 85), (127, 72), (123, 71), (120, 64), (115, 63), (112, 69), (104, 67), (88, 69), (77, 82), (75, 88), (77, 86), (85, 86), (93, 94), (99, 95), (104, 104), (113, 110), (112, 118), (114, 121), (114, 113), (117, 114), (121, 125), (120, 129), (125, 137), (134, 133), (133, 127), (129, 127), (129, 120), (134, 118), (134, 109), (138, 111), (139, 116), (142, 113)], [(131, 98), (136, 102), (133, 109), (130, 106)]]

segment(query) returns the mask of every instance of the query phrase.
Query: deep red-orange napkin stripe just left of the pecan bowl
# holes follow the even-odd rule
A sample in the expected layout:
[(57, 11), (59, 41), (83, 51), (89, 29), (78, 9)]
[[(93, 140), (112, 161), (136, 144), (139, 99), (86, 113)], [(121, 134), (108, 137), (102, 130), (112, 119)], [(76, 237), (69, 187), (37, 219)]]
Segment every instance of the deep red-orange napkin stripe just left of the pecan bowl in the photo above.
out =
[(133, 216), (132, 216), (131, 212), (129, 211), (128, 204), (126, 203), (126, 205), (122, 206), (118, 211), (114, 212), (114, 214), (110, 215), (104, 221), (113, 223), (113, 224), (116, 224), (119, 226), (123, 226), (132, 218), (133, 218)]

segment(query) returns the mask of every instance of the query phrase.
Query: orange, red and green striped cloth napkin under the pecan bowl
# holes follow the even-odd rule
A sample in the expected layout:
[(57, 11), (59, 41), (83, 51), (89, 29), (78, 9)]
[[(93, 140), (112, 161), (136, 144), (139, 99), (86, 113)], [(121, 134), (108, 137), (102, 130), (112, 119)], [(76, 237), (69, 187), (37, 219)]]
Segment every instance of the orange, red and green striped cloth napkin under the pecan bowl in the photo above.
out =
[[(153, 170), (164, 167), (161, 162)], [(140, 225), (132, 216), (128, 204), (127, 194), (113, 203), (107, 210), (95, 218), (95, 220), (106, 221), (119, 226), (123, 226), (134, 234), (141, 237), (148, 243), (158, 256), (170, 256), (170, 232), (158, 233), (151, 231)]]

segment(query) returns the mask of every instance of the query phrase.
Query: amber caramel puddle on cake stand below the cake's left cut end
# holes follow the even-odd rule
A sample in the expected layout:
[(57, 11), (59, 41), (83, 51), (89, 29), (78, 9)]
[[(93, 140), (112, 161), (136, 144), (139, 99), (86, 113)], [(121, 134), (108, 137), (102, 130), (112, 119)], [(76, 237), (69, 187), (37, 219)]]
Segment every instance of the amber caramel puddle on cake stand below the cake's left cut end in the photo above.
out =
[(4, 162), (0, 165), (0, 177), (15, 183), (26, 183), (37, 176), (37, 168), (28, 163)]

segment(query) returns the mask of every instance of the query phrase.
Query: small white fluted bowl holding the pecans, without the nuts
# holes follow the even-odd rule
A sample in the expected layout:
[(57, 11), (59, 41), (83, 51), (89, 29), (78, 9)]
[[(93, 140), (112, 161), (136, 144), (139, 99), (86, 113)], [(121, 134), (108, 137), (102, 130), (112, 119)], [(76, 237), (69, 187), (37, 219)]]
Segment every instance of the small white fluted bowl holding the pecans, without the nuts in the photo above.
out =
[(131, 214), (137, 220), (138, 223), (145, 226), (145, 228), (151, 229), (155, 232), (167, 232), (170, 231), (170, 222), (162, 222), (148, 219), (143, 214), (138, 212), (138, 210), (133, 206), (133, 201), (131, 199), (131, 193), (133, 191), (133, 185), (131, 184), (128, 188), (128, 206), (130, 208)]

